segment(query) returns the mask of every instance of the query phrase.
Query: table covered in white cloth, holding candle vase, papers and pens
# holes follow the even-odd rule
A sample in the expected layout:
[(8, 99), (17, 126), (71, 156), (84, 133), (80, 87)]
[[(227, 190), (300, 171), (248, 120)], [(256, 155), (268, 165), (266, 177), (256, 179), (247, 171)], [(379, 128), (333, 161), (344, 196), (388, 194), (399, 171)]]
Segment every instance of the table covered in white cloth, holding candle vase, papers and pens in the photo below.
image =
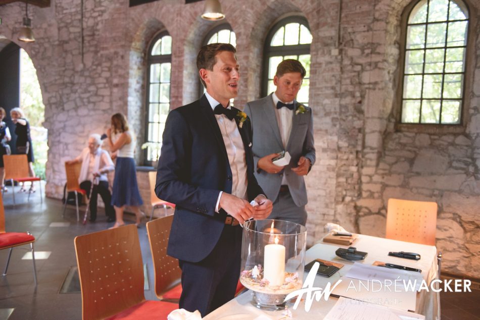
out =
[[(352, 246), (355, 246), (359, 251), (368, 252), (368, 255), (364, 260), (357, 262), (371, 265), (374, 261), (382, 261), (421, 269), (422, 277), (427, 282), (427, 284), (429, 284), (432, 280), (438, 278), (437, 248), (435, 246), (378, 238), (366, 235), (359, 235), (358, 239), (354, 242)], [(315, 244), (313, 247), (307, 250), (305, 263), (308, 263), (316, 258), (320, 258), (345, 264), (345, 266), (340, 269), (339, 272), (335, 273), (330, 278), (324, 278), (317, 275), (314, 282), (315, 287), (325, 288), (325, 285), (328, 282), (331, 282), (333, 285), (352, 267), (354, 263), (353, 261), (344, 260), (335, 255), (335, 250), (337, 250), (339, 247), (347, 248), (348, 246), (321, 242)], [(421, 259), (415, 261), (392, 257), (388, 255), (389, 251), (416, 252), (421, 255)], [(306, 276), (307, 273), (305, 273), (304, 279)], [(252, 294), (252, 291), (248, 290), (247, 292), (237, 296), (235, 299), (230, 300), (228, 303), (214, 310), (213, 312), (205, 316), (204, 319), (278, 320), (283, 317), (281, 311), (265, 311), (255, 307), (252, 304)], [(294, 298), (294, 301), (295, 299), (296, 298)], [(337, 300), (337, 298), (332, 296), (330, 296), (328, 301), (324, 301), (323, 298), (320, 301), (314, 300), (309, 312), (305, 311), (305, 301), (302, 301), (300, 302), (300, 305), (296, 310), (290, 308), (292, 311), (293, 319), (322, 319), (333, 307), (335, 302), (337, 302)], [(431, 290), (429, 292), (426, 292), (424, 290), (418, 292), (415, 312), (425, 315), (425, 319), (439, 319), (439, 293), (433, 292)]]

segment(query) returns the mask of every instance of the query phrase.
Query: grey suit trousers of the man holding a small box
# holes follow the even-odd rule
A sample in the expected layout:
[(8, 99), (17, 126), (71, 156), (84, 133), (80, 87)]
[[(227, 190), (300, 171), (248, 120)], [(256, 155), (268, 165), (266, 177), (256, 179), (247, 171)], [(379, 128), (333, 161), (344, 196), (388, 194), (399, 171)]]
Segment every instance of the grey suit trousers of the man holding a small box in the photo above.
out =
[(302, 226), (307, 223), (307, 211), (305, 205), (297, 206), (290, 191), (279, 192), (273, 202), (273, 210), (268, 219), (291, 221)]

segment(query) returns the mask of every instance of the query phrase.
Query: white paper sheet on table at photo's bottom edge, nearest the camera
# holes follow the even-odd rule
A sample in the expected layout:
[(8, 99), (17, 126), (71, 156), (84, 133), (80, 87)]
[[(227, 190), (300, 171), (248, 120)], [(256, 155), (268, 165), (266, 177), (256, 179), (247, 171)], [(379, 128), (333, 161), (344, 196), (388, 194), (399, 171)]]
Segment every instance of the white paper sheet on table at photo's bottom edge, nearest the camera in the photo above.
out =
[(340, 297), (325, 320), (417, 320), (424, 315)]

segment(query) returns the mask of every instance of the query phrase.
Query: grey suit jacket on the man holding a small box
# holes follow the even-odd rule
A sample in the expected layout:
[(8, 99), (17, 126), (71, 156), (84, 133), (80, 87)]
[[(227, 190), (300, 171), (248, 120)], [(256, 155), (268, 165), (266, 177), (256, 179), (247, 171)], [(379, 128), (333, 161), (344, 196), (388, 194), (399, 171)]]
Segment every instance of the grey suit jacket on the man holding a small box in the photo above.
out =
[(253, 129), (252, 151), (256, 168), (255, 177), (266, 196), (275, 201), (280, 191), (282, 176), (285, 175), (295, 204), (302, 206), (307, 204), (305, 181), (303, 177), (293, 172), (292, 168), (297, 167), (302, 155), (308, 158), (312, 165), (315, 163), (312, 109), (306, 106), (305, 113), (295, 114), (297, 109), (297, 101), (295, 101), (292, 131), (285, 149), (285, 151), (289, 151), (292, 159), (290, 164), (285, 166), (281, 172), (270, 174), (258, 169), (257, 164), (261, 157), (283, 150), (274, 108), (271, 94), (259, 100), (248, 102), (245, 106), (245, 113), (249, 116)]

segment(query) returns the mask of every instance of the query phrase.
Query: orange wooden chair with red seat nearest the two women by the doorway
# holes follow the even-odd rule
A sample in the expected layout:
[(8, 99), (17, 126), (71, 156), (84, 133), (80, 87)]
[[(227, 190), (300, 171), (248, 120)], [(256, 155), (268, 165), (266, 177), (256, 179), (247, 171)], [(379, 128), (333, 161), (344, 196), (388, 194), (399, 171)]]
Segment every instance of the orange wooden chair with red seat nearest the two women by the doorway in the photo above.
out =
[[(4, 154), (5, 180), (12, 183), (13, 205), (15, 205), (15, 184), (14, 182), (38, 181), (40, 190), (40, 202), (43, 203), (41, 196), (41, 181), (38, 177), (29, 177), (28, 159), (26, 154)], [(30, 193), (28, 193), (28, 201), (30, 201)]]

